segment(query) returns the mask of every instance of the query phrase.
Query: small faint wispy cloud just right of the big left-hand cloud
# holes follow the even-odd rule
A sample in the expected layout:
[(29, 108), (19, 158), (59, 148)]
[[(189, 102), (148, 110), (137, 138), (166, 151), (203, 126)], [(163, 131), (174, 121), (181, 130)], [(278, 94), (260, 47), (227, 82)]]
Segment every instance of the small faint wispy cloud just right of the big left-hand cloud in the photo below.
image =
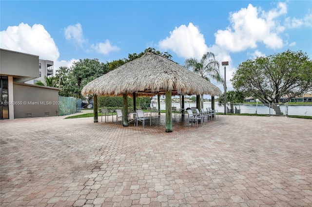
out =
[(82, 47), (82, 44), (88, 40), (83, 38), (81, 24), (77, 23), (76, 25), (69, 25), (64, 30), (64, 35), (66, 40), (71, 40), (74, 43), (78, 43)]

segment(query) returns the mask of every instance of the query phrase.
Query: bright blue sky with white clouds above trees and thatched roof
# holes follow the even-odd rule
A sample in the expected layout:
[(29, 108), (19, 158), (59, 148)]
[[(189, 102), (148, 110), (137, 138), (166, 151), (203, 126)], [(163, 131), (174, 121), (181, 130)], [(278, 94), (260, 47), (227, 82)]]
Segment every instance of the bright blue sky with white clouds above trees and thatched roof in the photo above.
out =
[(0, 32), (0, 48), (53, 60), (55, 70), (78, 59), (127, 58), (148, 47), (169, 52), (181, 65), (214, 52), (220, 63), (229, 61), (232, 89), (232, 74), (247, 59), (287, 49), (312, 59), (312, 1), (1, 0)]

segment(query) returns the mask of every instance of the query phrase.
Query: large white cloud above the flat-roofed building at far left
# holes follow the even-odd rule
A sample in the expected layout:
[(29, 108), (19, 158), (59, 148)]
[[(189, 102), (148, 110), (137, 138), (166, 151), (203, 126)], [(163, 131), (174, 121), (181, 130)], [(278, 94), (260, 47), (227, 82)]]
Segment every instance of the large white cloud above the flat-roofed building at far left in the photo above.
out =
[(0, 32), (0, 48), (39, 55), (40, 59), (56, 61), (59, 49), (41, 24), (20, 23)]

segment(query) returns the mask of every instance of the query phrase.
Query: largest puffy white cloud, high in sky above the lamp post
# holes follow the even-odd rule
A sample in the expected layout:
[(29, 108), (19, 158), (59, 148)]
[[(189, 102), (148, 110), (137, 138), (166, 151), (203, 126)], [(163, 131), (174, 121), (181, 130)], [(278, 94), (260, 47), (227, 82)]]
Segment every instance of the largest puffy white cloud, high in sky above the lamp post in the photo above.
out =
[(230, 14), (231, 26), (215, 33), (215, 44), (231, 52), (256, 48), (258, 42), (268, 48), (281, 48), (283, 40), (279, 35), (285, 27), (279, 25), (277, 17), (287, 13), (286, 4), (280, 2), (277, 8), (263, 11), (261, 15), (260, 12), (260, 8), (249, 4), (247, 8)]

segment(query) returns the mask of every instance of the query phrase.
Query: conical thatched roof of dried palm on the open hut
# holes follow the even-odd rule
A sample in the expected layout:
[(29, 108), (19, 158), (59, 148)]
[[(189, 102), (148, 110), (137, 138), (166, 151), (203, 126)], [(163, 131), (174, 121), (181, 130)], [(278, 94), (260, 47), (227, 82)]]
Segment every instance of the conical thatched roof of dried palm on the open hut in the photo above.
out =
[(172, 90), (178, 94), (210, 94), (220, 96), (221, 90), (183, 66), (158, 55), (147, 52), (83, 87), (81, 93), (98, 96), (120, 96), (136, 93), (138, 96), (154, 96)]

